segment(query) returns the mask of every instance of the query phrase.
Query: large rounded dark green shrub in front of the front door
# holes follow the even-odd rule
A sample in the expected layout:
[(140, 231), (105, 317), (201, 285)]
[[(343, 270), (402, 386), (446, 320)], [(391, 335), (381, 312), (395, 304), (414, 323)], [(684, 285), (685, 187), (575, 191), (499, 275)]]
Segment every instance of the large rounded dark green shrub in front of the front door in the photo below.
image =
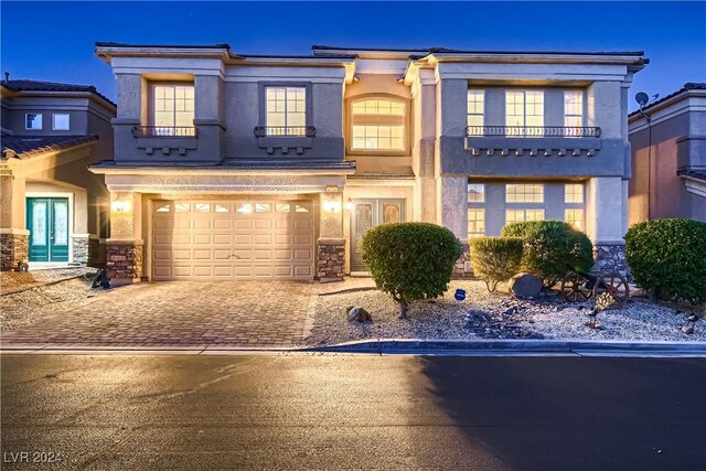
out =
[(363, 260), (375, 285), (399, 304), (434, 299), (447, 290), (463, 248), (453, 233), (429, 223), (394, 223), (373, 227), (361, 240)]

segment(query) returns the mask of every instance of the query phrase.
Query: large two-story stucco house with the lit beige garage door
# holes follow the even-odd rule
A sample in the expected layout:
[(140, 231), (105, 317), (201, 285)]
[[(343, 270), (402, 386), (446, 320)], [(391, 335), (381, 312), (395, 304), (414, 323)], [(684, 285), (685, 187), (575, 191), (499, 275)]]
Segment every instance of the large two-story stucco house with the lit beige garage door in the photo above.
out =
[(569, 221), (624, 268), (641, 52), (96, 45), (118, 85), (115, 161), (92, 167), (116, 282), (335, 280), (399, 221), (461, 240)]

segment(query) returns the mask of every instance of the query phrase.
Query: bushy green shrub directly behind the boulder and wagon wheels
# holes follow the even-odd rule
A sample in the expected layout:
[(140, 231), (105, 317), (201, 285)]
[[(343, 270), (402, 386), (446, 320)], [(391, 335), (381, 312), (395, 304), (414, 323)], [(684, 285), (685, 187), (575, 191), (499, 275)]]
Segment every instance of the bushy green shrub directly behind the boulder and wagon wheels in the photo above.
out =
[(593, 245), (586, 234), (561, 221), (530, 221), (507, 224), (505, 237), (522, 237), (522, 269), (544, 280), (549, 288), (568, 271), (567, 264), (579, 271), (593, 267)]

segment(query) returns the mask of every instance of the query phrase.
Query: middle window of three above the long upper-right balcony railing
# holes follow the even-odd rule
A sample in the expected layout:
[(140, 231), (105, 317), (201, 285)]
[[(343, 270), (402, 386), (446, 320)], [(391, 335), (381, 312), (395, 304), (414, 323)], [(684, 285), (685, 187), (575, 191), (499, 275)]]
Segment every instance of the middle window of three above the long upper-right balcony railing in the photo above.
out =
[(544, 136), (544, 92), (505, 92), (505, 126), (507, 136)]

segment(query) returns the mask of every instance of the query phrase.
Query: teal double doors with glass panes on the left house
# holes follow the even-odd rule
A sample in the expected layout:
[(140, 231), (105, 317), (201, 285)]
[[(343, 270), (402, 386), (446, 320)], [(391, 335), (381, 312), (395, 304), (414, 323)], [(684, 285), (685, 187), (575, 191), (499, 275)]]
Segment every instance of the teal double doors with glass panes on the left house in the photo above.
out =
[(28, 197), (30, 261), (68, 261), (68, 199)]

